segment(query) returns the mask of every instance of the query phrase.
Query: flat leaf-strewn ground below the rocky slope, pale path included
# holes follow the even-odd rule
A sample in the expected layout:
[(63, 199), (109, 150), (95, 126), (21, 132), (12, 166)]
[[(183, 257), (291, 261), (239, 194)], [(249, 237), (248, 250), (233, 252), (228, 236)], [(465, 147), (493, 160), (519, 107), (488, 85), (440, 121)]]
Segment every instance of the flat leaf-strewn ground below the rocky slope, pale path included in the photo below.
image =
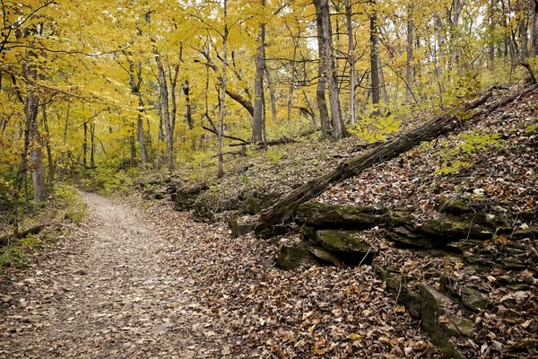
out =
[(169, 204), (82, 194), (89, 215), (0, 281), (0, 358), (434, 355), (370, 267), (284, 272)]

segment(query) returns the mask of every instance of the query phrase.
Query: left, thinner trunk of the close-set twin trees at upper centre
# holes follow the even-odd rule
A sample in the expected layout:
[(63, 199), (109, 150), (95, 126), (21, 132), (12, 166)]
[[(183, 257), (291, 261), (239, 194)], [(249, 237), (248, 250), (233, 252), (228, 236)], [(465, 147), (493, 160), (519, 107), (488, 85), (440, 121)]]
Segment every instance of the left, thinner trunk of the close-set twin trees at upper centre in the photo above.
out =
[(321, 0), (314, 0), (316, 7), (316, 23), (317, 23), (317, 54), (319, 56), (319, 65), (317, 66), (317, 110), (319, 111), (319, 122), (321, 123), (321, 135), (324, 137), (331, 136), (331, 120), (329, 118), (329, 109), (327, 108), (327, 101), (325, 100), (325, 86), (326, 86), (326, 74), (325, 74), (325, 36), (324, 27), (322, 22), (322, 15), (320, 11)]

